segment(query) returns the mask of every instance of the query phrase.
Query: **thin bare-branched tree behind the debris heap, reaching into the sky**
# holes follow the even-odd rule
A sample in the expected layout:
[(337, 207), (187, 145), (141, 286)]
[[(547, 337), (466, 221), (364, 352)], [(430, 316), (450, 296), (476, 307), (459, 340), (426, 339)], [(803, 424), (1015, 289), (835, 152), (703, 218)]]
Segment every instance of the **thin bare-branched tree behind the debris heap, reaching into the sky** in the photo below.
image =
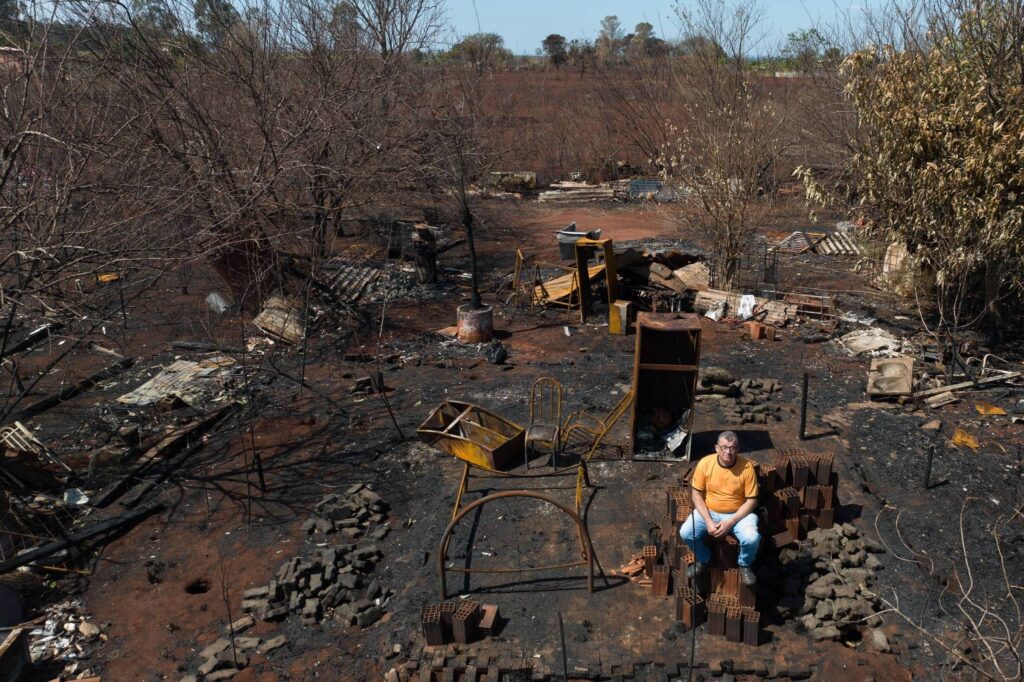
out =
[(660, 162), (665, 176), (690, 197), (681, 220), (707, 235), (730, 288), (792, 143), (786, 108), (749, 69), (762, 17), (753, 0), (698, 0), (677, 11), (684, 35), (717, 48), (695, 50), (679, 67), (683, 123)]

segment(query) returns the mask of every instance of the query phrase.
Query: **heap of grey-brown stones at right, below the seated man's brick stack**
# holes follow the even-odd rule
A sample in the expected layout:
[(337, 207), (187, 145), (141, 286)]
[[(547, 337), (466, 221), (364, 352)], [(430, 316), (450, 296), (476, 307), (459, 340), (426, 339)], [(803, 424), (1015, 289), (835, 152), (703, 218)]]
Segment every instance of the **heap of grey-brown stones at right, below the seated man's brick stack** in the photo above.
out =
[(882, 624), (872, 585), (882, 566), (876, 555), (884, 551), (850, 523), (837, 523), (811, 530), (800, 548), (781, 550), (778, 571), (764, 578), (784, 595), (782, 614), (799, 616), (815, 641), (847, 639)]

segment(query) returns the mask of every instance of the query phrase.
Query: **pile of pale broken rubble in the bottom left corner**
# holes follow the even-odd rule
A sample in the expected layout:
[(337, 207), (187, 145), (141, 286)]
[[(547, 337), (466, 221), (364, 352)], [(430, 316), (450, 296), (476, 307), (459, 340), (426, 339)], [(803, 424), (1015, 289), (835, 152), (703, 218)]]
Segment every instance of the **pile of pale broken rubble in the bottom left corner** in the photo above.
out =
[(99, 626), (90, 622), (82, 603), (73, 599), (53, 604), (46, 609), (42, 627), (29, 632), (29, 652), (33, 664), (65, 660), (61, 676), (88, 677), (90, 671), (82, 662), (88, 660), (104, 641)]

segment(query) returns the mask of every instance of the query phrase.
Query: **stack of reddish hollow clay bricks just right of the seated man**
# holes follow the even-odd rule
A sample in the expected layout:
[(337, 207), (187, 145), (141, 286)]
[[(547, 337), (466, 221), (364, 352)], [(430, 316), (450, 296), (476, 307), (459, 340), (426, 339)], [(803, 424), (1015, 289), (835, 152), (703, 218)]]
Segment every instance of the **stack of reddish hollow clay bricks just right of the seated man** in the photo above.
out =
[(831, 453), (778, 451), (771, 464), (758, 465), (758, 480), (766, 510), (763, 535), (776, 549), (835, 523), (839, 474)]

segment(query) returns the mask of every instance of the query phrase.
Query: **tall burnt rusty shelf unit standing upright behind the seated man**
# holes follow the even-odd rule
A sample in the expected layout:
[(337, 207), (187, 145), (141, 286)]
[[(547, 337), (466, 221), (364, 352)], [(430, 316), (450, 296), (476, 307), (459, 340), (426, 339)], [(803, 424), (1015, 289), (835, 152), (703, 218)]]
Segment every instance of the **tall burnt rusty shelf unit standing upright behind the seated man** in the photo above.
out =
[(630, 423), (633, 455), (664, 452), (659, 438), (642, 439), (638, 434), (649, 433), (651, 428), (663, 433), (671, 430), (689, 411), (685, 420), (689, 458), (700, 366), (700, 317), (692, 312), (641, 312), (637, 315), (636, 337)]

